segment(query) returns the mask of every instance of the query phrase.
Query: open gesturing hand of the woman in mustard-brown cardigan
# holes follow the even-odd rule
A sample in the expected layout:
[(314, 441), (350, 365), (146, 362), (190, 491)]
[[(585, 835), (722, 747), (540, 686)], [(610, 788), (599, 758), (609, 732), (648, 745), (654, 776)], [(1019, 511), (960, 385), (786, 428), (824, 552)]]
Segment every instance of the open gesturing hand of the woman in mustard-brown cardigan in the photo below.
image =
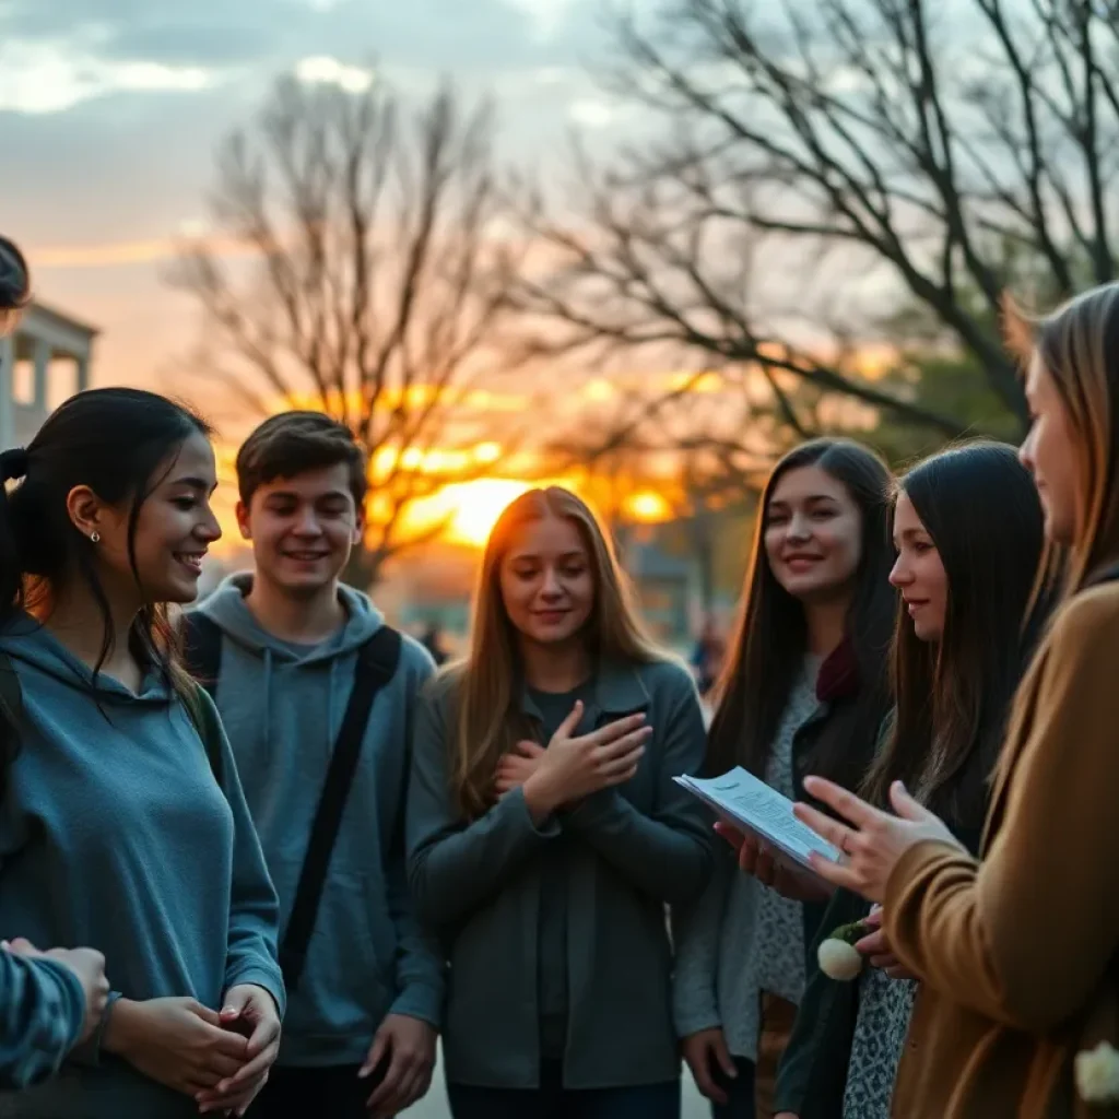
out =
[(814, 852), (809, 856), (812, 869), (833, 885), (862, 894), (867, 901), (883, 900), (894, 867), (905, 852), (919, 843), (932, 840), (966, 853), (944, 821), (918, 803), (901, 781), (890, 787), (890, 801), (896, 816), (874, 808), (824, 778), (805, 778), (805, 790), (843, 819), (833, 819), (803, 803), (793, 808), (797, 819), (847, 856), (835, 863)]

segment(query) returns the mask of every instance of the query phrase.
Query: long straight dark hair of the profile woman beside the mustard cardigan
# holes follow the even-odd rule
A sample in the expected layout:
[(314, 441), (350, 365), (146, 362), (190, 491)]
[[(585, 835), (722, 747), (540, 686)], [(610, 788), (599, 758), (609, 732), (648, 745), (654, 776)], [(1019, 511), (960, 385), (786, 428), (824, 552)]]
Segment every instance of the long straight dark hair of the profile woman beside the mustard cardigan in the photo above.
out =
[[(944, 567), (939, 641), (922, 641), (899, 603), (896, 707), (864, 793), (888, 802), (891, 782), (951, 824), (976, 828), (987, 802), (1010, 702), (1045, 610), (1031, 609), (1044, 547), (1037, 490), (1017, 452), (976, 442), (925, 459), (897, 483)], [(1028, 618), (1027, 618), (1028, 614)]]

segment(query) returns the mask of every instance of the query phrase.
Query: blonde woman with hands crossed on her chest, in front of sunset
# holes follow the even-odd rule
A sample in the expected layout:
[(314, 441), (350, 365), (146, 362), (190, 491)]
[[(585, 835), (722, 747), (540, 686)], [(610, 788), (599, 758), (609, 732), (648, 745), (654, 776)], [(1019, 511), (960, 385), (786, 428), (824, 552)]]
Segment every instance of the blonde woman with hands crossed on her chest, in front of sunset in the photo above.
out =
[(518, 498), (415, 727), (408, 874), (450, 962), (454, 1119), (679, 1115), (665, 905), (713, 854), (673, 778), (703, 754), (690, 674), (642, 633), (590, 509)]

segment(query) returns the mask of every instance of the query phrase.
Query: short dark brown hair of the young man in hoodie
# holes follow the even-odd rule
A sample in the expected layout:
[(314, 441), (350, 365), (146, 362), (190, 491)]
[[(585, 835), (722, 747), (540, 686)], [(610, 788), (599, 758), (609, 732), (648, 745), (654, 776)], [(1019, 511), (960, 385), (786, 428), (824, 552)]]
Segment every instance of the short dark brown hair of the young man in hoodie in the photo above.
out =
[(369, 488), (366, 455), (352, 432), (323, 412), (282, 412), (265, 420), (237, 452), (237, 490), (247, 506), (278, 478), (345, 464), (358, 513)]

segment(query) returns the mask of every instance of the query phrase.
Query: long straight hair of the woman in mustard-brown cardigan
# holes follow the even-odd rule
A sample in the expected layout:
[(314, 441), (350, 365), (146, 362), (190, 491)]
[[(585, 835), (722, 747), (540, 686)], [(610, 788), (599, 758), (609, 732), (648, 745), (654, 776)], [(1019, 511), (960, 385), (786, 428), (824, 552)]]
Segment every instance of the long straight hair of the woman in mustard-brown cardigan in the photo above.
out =
[(1005, 314), (1010, 347), (1045, 367), (1075, 436), (1075, 530), (1068, 556), (1050, 548), (1047, 561), (1060, 589), (1074, 594), (1119, 561), (1119, 284), (1093, 288), (1041, 319), (1008, 299)]

